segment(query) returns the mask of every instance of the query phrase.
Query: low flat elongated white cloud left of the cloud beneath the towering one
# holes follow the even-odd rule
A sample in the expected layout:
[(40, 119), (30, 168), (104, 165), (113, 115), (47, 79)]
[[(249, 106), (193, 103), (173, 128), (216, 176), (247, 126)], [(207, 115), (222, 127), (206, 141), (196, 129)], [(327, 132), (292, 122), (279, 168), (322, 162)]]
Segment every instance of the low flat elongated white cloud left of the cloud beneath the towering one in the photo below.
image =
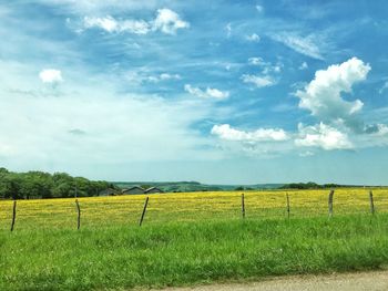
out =
[(288, 139), (288, 135), (283, 129), (258, 128), (254, 132), (244, 132), (244, 131), (235, 129), (231, 127), (231, 125), (228, 124), (214, 125), (211, 133), (226, 141), (282, 142), (282, 141)]

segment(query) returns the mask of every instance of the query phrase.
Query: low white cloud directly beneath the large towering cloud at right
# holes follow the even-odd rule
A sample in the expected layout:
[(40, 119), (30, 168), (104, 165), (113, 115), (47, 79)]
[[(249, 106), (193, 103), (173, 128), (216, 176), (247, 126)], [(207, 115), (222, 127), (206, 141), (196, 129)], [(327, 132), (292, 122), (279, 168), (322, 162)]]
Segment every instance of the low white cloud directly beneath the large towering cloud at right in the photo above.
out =
[(312, 126), (298, 124), (298, 131), (299, 138), (295, 139), (296, 146), (319, 147), (325, 150), (349, 149), (354, 147), (347, 134), (324, 123)]

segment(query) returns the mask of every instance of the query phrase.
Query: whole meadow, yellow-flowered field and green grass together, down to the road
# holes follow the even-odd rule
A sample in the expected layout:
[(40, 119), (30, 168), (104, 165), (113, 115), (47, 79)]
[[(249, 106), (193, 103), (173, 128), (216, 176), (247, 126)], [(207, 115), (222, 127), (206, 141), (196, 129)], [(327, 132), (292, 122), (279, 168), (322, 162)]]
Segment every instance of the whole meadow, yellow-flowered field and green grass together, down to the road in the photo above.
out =
[[(0, 290), (127, 290), (388, 267), (388, 189), (0, 201)], [(286, 194), (290, 216), (286, 211)]]

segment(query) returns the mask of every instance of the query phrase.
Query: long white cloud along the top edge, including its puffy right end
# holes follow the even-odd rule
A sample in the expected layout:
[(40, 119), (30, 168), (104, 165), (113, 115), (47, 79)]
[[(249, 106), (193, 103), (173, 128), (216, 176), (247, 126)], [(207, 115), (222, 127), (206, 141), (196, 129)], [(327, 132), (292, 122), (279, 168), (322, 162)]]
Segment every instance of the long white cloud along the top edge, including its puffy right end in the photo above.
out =
[(129, 32), (134, 34), (147, 34), (151, 31), (161, 31), (166, 34), (175, 34), (178, 29), (186, 29), (190, 23), (183, 21), (173, 10), (159, 9), (154, 20), (118, 20), (111, 15), (104, 18), (85, 17), (85, 29), (99, 28), (106, 32)]

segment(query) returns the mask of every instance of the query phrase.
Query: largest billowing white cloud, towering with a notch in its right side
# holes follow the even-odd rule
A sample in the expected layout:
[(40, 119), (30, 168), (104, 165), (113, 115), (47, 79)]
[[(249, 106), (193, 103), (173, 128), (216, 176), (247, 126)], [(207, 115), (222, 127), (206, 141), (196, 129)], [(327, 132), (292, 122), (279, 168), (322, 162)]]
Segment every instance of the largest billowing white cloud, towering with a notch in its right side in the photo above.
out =
[(330, 65), (327, 70), (315, 73), (315, 79), (298, 90), (299, 107), (312, 112), (324, 121), (347, 121), (363, 108), (363, 102), (345, 101), (340, 94), (351, 92), (351, 86), (364, 81), (370, 70), (369, 64), (353, 58), (341, 64)]

